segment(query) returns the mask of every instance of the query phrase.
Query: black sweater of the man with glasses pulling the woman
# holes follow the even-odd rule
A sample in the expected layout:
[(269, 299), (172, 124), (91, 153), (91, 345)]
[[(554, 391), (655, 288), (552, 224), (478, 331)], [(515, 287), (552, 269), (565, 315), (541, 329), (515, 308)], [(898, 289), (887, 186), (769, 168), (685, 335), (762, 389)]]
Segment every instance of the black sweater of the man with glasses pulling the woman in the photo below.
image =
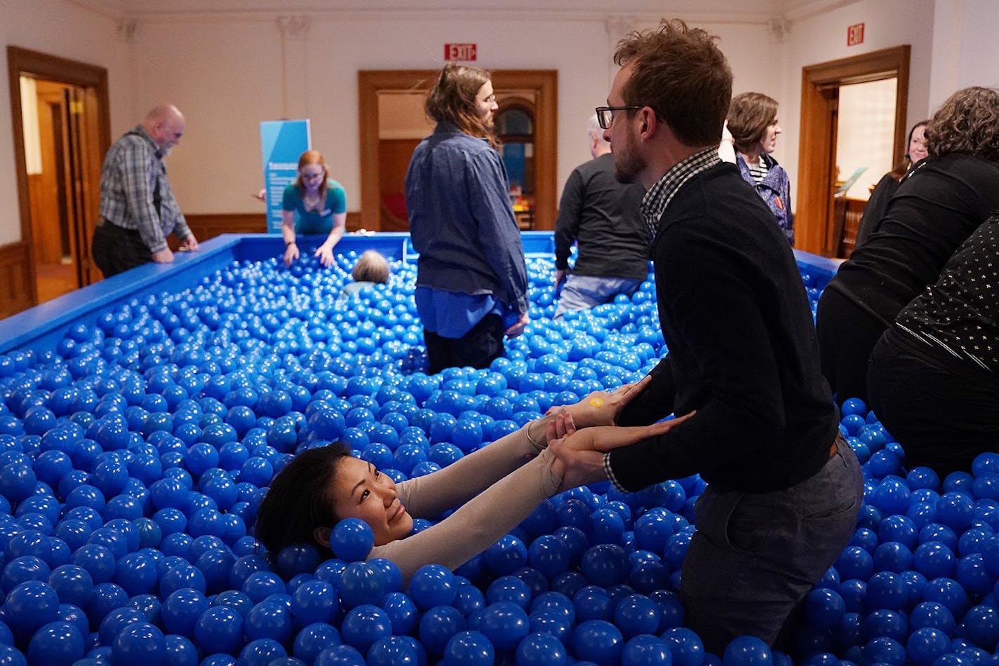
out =
[(697, 413), (610, 452), (637, 490), (700, 472), (720, 491), (769, 492), (817, 472), (838, 419), (794, 254), (734, 165), (693, 177), (666, 207), (652, 245), (669, 354), (621, 414), (647, 423)]

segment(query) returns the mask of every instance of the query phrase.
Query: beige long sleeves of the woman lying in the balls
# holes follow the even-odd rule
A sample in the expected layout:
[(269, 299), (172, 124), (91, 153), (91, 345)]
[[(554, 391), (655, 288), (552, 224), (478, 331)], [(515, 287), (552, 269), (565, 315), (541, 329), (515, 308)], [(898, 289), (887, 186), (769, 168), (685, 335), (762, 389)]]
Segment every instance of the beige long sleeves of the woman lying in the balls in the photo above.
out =
[(500, 540), (561, 483), (552, 469), (554, 455), (527, 439), (529, 425), (439, 471), (400, 483), (400, 501), (415, 518), (460, 508), (418, 534), (375, 546), (368, 559), (395, 562), (408, 584), (425, 564), (456, 569)]

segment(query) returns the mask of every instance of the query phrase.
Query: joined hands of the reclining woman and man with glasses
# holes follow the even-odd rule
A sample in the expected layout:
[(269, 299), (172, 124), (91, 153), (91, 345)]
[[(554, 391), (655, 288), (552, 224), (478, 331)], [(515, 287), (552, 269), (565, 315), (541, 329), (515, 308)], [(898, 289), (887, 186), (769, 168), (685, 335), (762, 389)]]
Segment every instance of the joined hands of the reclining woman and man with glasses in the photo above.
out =
[(650, 425), (615, 425), (621, 409), (650, 381), (619, 386), (611, 392), (593, 391), (575, 404), (552, 407), (555, 417), (548, 423), (544, 436), (548, 448), (560, 467), (562, 482), (558, 491), (577, 485), (606, 480), (603, 454), (613, 448), (630, 446), (642, 439), (654, 437), (676, 427), (694, 412)]

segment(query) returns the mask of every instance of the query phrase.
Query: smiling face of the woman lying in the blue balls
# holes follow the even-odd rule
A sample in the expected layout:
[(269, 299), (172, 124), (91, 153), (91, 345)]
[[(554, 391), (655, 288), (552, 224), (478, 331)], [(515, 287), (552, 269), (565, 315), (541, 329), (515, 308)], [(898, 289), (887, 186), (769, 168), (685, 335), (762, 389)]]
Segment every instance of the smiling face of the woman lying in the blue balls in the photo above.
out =
[(332, 492), (337, 515), (367, 522), (377, 546), (413, 531), (413, 517), (399, 501), (396, 482), (366, 460), (345, 456), (337, 466)]

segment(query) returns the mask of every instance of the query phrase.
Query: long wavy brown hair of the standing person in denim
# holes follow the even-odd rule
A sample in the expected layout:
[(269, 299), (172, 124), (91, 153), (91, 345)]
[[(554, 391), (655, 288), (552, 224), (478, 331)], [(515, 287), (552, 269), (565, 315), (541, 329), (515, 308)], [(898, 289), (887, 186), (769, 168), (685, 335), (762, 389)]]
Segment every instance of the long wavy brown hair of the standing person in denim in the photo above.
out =
[(476, 96), (491, 78), (484, 69), (448, 63), (427, 96), (427, 115), (439, 123), (455, 123), (469, 136), (486, 139), (493, 148), (499, 148), (496, 132), (483, 122), (476, 110)]

